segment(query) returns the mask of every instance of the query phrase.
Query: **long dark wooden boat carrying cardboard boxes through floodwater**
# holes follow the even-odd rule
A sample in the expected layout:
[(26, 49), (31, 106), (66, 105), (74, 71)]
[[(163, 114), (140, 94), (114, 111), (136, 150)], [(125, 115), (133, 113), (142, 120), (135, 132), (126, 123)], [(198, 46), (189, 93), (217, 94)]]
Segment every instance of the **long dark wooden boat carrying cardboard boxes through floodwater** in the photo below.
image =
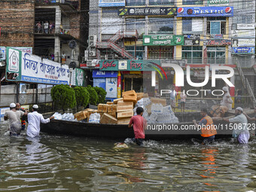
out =
[[(252, 113), (253, 110), (247, 112), (247, 114)], [(168, 124), (166, 123), (166, 125)], [(166, 140), (200, 138), (200, 130), (181, 130), (182, 126), (193, 126), (194, 124), (191, 122), (169, 123), (169, 125), (174, 127), (175, 129), (166, 131), (146, 130), (146, 139)], [(216, 121), (215, 126), (218, 126), (218, 135), (216, 136), (217, 139), (231, 137), (232, 130), (226, 129), (226, 127), (229, 126), (228, 123), (225, 123), (223, 121)], [(126, 139), (134, 137), (133, 128), (129, 128), (127, 125), (84, 123), (68, 120), (50, 120), (50, 123), (41, 124), (41, 132), (57, 135), (60, 134), (106, 139)]]

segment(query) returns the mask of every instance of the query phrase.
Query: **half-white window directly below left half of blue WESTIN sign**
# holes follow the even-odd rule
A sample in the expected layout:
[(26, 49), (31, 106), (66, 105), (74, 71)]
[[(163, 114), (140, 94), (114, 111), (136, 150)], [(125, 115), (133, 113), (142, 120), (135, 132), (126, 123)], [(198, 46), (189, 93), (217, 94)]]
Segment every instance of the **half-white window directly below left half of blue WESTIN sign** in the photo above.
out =
[(202, 34), (203, 19), (201, 18), (183, 18), (182, 19), (183, 34)]

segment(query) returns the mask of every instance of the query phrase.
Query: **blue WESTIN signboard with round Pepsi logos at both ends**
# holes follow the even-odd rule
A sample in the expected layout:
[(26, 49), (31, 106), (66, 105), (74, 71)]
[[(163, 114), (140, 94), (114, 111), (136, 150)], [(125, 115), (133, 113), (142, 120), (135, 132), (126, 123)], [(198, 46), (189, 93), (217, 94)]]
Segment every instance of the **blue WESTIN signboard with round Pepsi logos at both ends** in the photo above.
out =
[(178, 8), (177, 17), (233, 17), (233, 7)]

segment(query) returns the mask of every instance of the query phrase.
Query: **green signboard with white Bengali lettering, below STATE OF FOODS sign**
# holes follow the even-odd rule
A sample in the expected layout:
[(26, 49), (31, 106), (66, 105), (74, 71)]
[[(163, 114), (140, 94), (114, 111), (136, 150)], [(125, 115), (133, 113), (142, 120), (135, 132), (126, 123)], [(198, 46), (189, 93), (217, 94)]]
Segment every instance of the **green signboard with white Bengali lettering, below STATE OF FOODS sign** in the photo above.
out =
[(184, 45), (183, 35), (143, 35), (143, 45), (173, 46)]

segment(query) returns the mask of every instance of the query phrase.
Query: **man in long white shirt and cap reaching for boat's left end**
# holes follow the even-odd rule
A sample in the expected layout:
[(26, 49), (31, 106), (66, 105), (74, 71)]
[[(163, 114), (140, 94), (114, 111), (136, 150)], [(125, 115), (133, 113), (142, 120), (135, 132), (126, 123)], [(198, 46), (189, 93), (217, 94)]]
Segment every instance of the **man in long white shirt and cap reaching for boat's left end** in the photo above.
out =
[(40, 123), (49, 123), (53, 118), (44, 119), (43, 115), (38, 113), (38, 105), (33, 105), (32, 113), (28, 114), (29, 126), (26, 130), (26, 135), (30, 137), (39, 136)]

